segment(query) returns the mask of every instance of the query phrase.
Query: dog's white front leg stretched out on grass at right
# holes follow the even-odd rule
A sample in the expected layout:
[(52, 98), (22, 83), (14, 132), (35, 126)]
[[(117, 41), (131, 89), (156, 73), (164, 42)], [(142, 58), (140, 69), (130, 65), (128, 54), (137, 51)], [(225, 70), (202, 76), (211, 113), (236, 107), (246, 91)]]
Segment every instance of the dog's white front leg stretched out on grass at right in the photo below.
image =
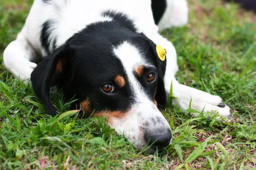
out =
[[(189, 103), (191, 102), (191, 108), (198, 112), (210, 112), (217, 113), (221, 117), (227, 118), (227, 121), (231, 119), (230, 108), (223, 103), (223, 100), (220, 96), (211, 95), (204, 91), (197, 90), (195, 88), (188, 87), (186, 85), (179, 84), (175, 79), (175, 71), (173, 68), (176, 67), (177, 61), (174, 58), (176, 54), (167, 52), (166, 59), (166, 74), (164, 77), (164, 84), (167, 97), (169, 97), (170, 87), (172, 84), (172, 96), (175, 98), (172, 99), (172, 106), (177, 105), (181, 110), (189, 109)], [(193, 116), (197, 116), (197, 113), (192, 113)]]

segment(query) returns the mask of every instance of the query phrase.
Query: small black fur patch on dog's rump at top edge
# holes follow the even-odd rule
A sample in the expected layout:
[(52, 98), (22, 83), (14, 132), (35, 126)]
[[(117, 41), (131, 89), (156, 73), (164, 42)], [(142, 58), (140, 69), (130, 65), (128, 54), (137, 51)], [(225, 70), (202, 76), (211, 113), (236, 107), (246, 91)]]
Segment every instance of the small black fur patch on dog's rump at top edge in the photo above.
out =
[(151, 8), (154, 16), (154, 22), (157, 25), (166, 10), (166, 0), (151, 0)]

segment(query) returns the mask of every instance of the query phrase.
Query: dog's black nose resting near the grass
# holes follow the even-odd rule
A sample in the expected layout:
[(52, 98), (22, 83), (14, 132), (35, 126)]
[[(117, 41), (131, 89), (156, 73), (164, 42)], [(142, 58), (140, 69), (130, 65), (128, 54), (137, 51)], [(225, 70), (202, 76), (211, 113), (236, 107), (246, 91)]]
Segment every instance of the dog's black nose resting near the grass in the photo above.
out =
[(155, 129), (154, 131), (148, 131), (145, 133), (145, 140), (151, 148), (156, 150), (163, 150), (164, 147), (168, 146), (172, 139), (172, 133), (169, 128), (166, 129)]

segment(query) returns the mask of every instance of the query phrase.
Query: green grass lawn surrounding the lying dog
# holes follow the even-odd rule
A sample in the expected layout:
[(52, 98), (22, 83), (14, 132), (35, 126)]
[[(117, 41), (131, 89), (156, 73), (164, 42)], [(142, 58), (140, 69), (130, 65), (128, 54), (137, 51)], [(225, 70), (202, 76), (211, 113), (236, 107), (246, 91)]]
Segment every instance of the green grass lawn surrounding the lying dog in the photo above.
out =
[(221, 96), (233, 120), (221, 125), (216, 116), (207, 121), (166, 109), (174, 140), (165, 152), (146, 155), (105, 119), (67, 112), (73, 101), (59, 92), (52, 101), (60, 114), (49, 117), (32, 88), (6, 71), (3, 50), (31, 4), (0, 0), (1, 170), (256, 168), (256, 14), (220, 0), (189, 0), (189, 24), (163, 31), (177, 50), (178, 81)]

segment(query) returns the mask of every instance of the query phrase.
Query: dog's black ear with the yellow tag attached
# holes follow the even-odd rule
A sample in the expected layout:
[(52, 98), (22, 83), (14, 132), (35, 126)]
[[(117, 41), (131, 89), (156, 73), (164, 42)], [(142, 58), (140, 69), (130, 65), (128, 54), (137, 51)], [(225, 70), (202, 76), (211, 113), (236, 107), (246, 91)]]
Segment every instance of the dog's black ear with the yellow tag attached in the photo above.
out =
[(166, 72), (166, 49), (162, 48), (160, 45), (150, 43), (151, 53), (154, 55), (155, 63), (157, 64), (158, 80), (157, 80), (157, 91), (155, 95), (155, 100), (158, 105), (167, 106), (166, 91), (164, 87), (164, 75)]

